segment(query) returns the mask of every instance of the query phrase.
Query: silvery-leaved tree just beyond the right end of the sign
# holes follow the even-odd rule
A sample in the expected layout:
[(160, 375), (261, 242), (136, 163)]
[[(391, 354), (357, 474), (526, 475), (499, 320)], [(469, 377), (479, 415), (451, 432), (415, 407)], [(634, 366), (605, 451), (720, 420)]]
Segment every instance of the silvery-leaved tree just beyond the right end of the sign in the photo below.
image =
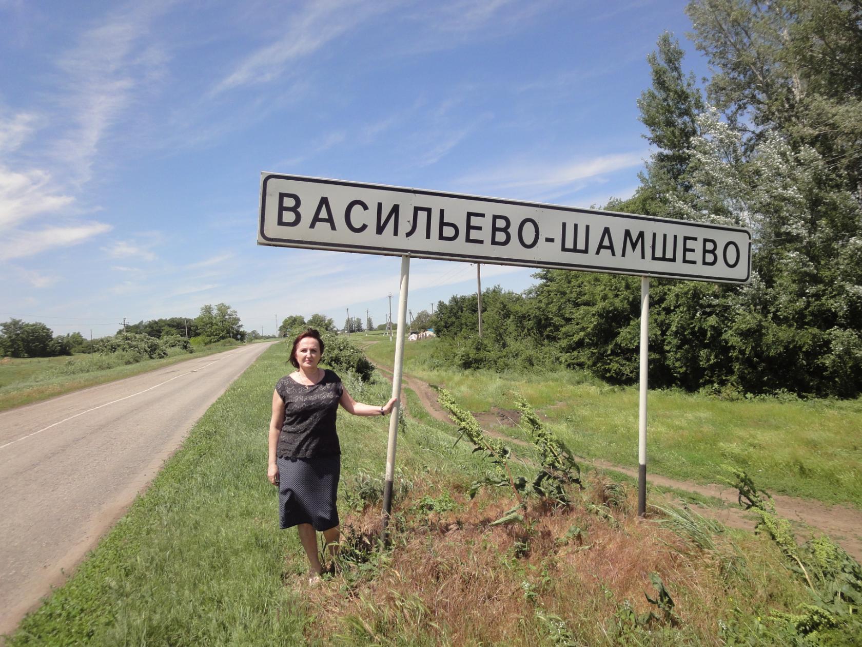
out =
[(746, 146), (715, 110), (699, 121), (692, 191), (671, 204), (682, 217), (743, 225), (754, 236), (752, 281), (726, 299), (728, 380), (750, 391), (858, 393), (859, 202), (815, 148), (794, 148), (778, 132)]

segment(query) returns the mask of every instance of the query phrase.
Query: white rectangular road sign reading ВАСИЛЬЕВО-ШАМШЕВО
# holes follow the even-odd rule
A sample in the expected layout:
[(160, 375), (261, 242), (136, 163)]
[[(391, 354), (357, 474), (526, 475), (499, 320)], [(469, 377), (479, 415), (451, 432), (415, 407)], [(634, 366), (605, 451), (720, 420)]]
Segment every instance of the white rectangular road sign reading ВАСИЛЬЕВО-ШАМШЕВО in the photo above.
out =
[(751, 233), (685, 220), (261, 173), (258, 244), (746, 283)]

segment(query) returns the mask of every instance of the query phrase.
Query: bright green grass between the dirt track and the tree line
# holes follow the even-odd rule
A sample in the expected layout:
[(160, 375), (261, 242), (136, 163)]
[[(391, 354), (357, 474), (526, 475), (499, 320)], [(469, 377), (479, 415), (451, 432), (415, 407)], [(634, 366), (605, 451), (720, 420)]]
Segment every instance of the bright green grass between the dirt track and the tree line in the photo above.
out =
[[(361, 340), (359, 340), (361, 341)], [(574, 371), (494, 374), (433, 367), (434, 340), (408, 342), (409, 374), (445, 386), (470, 411), (510, 410), (519, 392), (578, 455), (634, 468), (638, 389), (608, 386)], [(365, 349), (392, 366), (395, 344)], [(753, 474), (772, 493), (862, 507), (862, 399), (728, 402), (651, 391), (647, 405), (650, 472), (715, 483), (721, 464)]]

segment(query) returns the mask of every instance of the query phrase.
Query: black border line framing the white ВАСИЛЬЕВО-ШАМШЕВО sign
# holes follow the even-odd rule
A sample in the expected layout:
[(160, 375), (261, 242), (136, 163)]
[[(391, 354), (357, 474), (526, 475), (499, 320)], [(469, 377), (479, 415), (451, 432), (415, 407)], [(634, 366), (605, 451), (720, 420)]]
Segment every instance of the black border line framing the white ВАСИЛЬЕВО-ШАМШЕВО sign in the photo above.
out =
[[(579, 207), (566, 207), (560, 204), (546, 204), (540, 202), (528, 202), (528, 201), (520, 201), (520, 200), (506, 200), (503, 198), (488, 198), (485, 196), (474, 196), (465, 193), (450, 193), (450, 192), (442, 192), (442, 191), (428, 191), (425, 189), (411, 189), (406, 186), (390, 186), (390, 185), (375, 185), (375, 184), (367, 184), (363, 182), (348, 182), (347, 180), (340, 179), (326, 179), (326, 178), (312, 178), (304, 175), (284, 175), (281, 173), (262, 173), (264, 175), (261, 183), (260, 183), (260, 222), (259, 222), (259, 245), (265, 245), (269, 243), (272, 247), (292, 247), (292, 248), (304, 248), (304, 249), (325, 249), (328, 251), (334, 252), (354, 252), (356, 254), (376, 254), (380, 256), (403, 256), (409, 255), (411, 258), (424, 258), (431, 259), (434, 261), (459, 261), (459, 262), (484, 262), (487, 265), (510, 265), (515, 267), (542, 267), (546, 269), (567, 269), (572, 271), (582, 271), (582, 272), (596, 272), (596, 273), (606, 273), (606, 274), (625, 274), (628, 276), (650, 276), (657, 278), (667, 278), (667, 279), (681, 279), (681, 280), (697, 280), (704, 281), (709, 283), (733, 283), (733, 284), (744, 284), (747, 283), (751, 279), (752, 273), (752, 256), (751, 256), (751, 244), (752, 244), (752, 235), (751, 231), (745, 229), (743, 227), (728, 227), (726, 225), (721, 224), (707, 224), (707, 223), (693, 223), (689, 220), (675, 220), (673, 218), (661, 218), (661, 217), (652, 217), (652, 216), (640, 216), (638, 214), (631, 213), (620, 213), (617, 211), (604, 211), (599, 209), (582, 209)], [(609, 217), (620, 217), (626, 218), (628, 220), (646, 220), (648, 222), (661, 222), (661, 223), (671, 223), (671, 224), (680, 224), (684, 223), (685, 225), (691, 227), (702, 227), (703, 229), (724, 229), (726, 231), (736, 231), (743, 232), (748, 236), (748, 272), (746, 273), (746, 278), (742, 280), (737, 279), (715, 279), (712, 277), (704, 277), (698, 275), (691, 275), (685, 273), (677, 273), (677, 272), (648, 272), (644, 273), (641, 270), (627, 270), (614, 268), (609, 269), (607, 267), (599, 267), (594, 265), (583, 265), (578, 263), (555, 263), (553, 261), (547, 261), (544, 263), (531, 263), (525, 262), (520, 259), (501, 259), (497, 256), (481, 256), (478, 254), (437, 254), (434, 252), (417, 252), (413, 249), (397, 249), (397, 248), (378, 248), (372, 245), (351, 245), (342, 242), (332, 242), (328, 244), (314, 244), (304, 241), (297, 241), (290, 238), (271, 238), (266, 236), (264, 233), (264, 214), (265, 214), (265, 202), (266, 202), (266, 183), (270, 179), (288, 179), (300, 182), (311, 182), (314, 184), (324, 184), (324, 185), (339, 185), (339, 186), (350, 186), (359, 189), (383, 189), (384, 191), (398, 192), (398, 193), (412, 193), (415, 195), (424, 195), (424, 196), (434, 196), (437, 198), (459, 198), (463, 200), (476, 200), (484, 203), (496, 203), (496, 204), (512, 204), (514, 206), (522, 206), (522, 207), (541, 207), (542, 209), (556, 210), (556, 211), (567, 211), (572, 213), (589, 213), (597, 216), (609, 216)], [(266, 241), (266, 243), (260, 242), (260, 239)]]

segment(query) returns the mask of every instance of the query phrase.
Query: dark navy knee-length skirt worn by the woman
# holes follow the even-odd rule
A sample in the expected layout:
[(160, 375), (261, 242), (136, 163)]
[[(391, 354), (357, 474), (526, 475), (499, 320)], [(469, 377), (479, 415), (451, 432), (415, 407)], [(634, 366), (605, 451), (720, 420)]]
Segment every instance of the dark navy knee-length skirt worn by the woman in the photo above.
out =
[(315, 531), (338, 525), (340, 455), (278, 459), (278, 517), (281, 527), (311, 524)]

